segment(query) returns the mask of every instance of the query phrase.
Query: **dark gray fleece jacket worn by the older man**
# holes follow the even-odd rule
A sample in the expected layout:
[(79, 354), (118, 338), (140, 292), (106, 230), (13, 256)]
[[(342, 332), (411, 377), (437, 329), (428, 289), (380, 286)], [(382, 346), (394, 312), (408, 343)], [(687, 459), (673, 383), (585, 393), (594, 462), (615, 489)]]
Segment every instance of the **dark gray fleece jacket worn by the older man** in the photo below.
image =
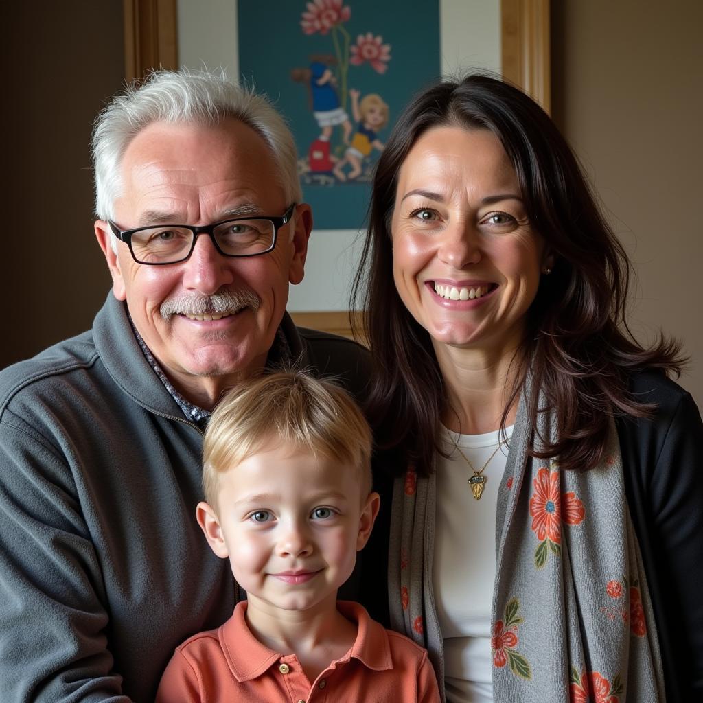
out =
[[(359, 345), (282, 329), (361, 392)], [(0, 373), (0, 701), (152, 701), (174, 647), (231, 615), (195, 522), (201, 450), (112, 295), (91, 331)]]

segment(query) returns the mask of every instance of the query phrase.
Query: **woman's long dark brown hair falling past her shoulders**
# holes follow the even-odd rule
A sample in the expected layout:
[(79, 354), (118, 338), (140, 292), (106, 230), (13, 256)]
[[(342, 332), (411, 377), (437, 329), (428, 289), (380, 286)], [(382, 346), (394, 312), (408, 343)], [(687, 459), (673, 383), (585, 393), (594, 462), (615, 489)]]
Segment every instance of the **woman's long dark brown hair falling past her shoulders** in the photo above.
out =
[[(522, 91), (486, 75), (441, 82), (420, 93), (399, 117), (373, 180), (370, 221), (352, 309), (361, 303), (373, 356), (367, 415), (379, 449), (432, 470), (446, 394), (430, 335), (408, 313), (393, 280), (390, 220), (399, 169), (415, 141), (440, 125), (487, 129), (503, 144), (534, 231), (555, 254), (527, 313), (522, 354), (505, 415), (528, 374), (560, 423), (554, 444), (534, 456), (558, 456), (564, 469), (602, 459), (610, 419), (649, 415), (652, 406), (628, 393), (641, 368), (679, 373), (678, 344), (660, 336), (643, 349), (626, 324), (631, 265), (600, 214), (576, 157), (546, 112)], [(537, 394), (527, 411), (537, 427)]]

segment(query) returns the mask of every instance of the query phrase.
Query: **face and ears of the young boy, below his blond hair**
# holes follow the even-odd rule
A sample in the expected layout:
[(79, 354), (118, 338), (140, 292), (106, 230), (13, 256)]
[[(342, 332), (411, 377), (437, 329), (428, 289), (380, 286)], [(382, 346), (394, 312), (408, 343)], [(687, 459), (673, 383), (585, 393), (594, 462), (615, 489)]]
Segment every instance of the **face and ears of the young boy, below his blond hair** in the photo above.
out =
[(250, 608), (334, 604), (378, 514), (378, 494), (362, 498), (359, 474), (271, 444), (219, 476), (217, 512), (200, 503), (198, 522), (214, 553), (229, 557)]

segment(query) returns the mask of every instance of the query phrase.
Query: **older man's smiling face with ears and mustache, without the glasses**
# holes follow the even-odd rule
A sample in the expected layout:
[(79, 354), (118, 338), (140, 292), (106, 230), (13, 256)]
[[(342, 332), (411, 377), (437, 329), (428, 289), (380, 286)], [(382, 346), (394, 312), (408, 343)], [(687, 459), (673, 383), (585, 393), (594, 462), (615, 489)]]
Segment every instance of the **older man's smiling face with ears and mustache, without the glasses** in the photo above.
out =
[[(216, 127), (151, 124), (127, 148), (122, 179), (124, 193), (115, 202), (121, 229), (205, 225), (240, 214), (280, 217), (290, 205), (263, 138), (233, 119)], [(138, 333), (176, 387), (205, 405), (264, 366), (288, 283), (302, 280), (310, 229), (309, 207), (300, 205), (268, 254), (224, 257), (205, 234), (187, 261), (147, 266), (131, 258), (126, 243), (112, 252), (107, 224), (96, 222), (115, 297), (127, 301)], [(219, 319), (188, 314), (191, 304), (197, 309), (195, 302), (217, 293), (249, 300)], [(162, 306), (176, 300), (183, 312), (168, 314)]]

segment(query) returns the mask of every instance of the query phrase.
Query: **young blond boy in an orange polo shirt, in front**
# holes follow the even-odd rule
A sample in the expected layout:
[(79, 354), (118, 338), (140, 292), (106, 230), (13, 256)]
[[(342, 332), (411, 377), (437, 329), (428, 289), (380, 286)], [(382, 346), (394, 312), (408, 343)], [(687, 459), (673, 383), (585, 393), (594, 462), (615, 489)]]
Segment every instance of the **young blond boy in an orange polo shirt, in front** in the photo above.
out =
[(247, 600), (176, 649), (157, 703), (439, 702), (422, 647), (336, 600), (378, 514), (370, 451), (331, 382), (276, 373), (221, 401), (196, 515)]

